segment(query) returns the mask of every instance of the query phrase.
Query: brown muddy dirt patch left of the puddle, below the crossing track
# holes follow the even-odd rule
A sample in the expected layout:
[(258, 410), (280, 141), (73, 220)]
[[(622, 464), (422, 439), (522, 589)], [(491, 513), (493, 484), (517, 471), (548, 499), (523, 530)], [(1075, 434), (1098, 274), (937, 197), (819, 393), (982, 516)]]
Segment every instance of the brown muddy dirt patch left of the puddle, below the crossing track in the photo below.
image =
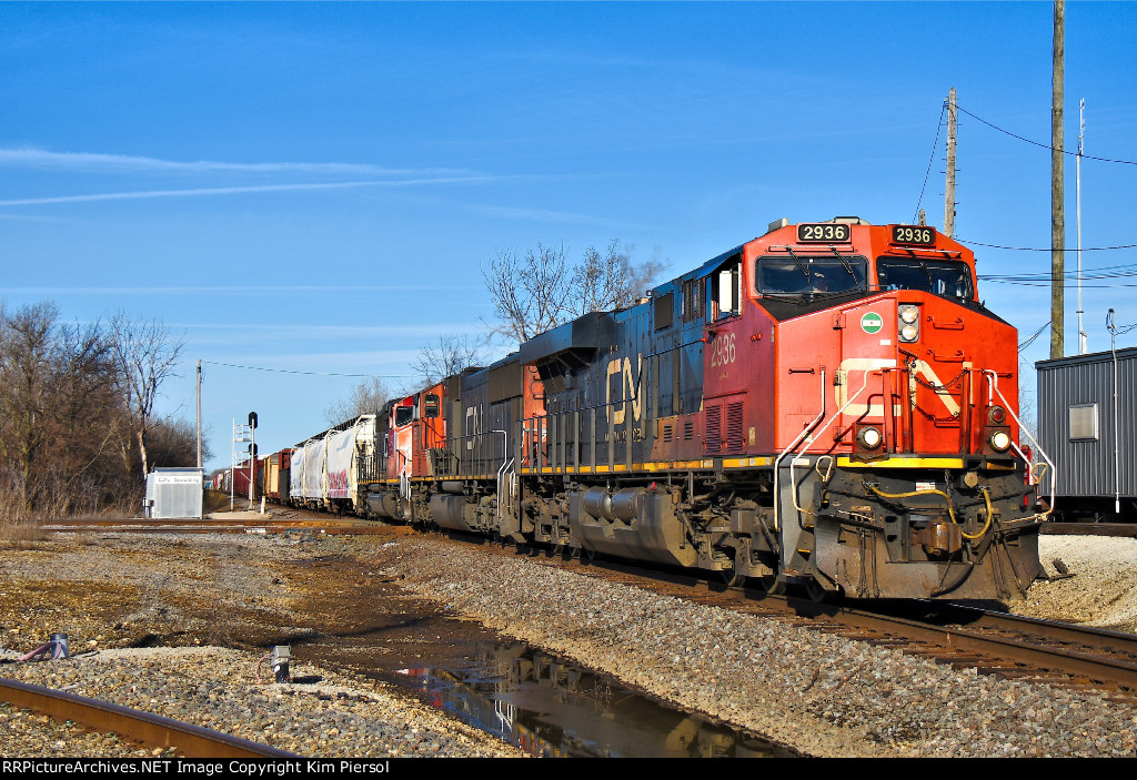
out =
[[(379, 551), (412, 532), (367, 537)], [(384, 679), (492, 641), (480, 624), (359, 571), (308, 531), (273, 537), (52, 535), (0, 554), (0, 647), (28, 652), (53, 632), (86, 649), (292, 646), (305, 660)], [(266, 548), (267, 547), (267, 548)], [(384, 567), (375, 565), (376, 571)]]

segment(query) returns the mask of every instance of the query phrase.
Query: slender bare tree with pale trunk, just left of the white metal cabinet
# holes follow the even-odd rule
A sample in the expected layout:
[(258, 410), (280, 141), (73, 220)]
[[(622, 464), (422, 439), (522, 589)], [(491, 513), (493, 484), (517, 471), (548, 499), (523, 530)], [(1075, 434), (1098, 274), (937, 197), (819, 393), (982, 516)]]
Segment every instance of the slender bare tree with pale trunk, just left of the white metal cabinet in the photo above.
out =
[[(163, 383), (174, 376), (185, 338), (173, 335), (160, 320), (135, 320), (122, 311), (110, 318), (110, 335), (118, 389), (130, 414), (144, 478), (150, 467), (147, 435), (153, 423), (155, 403)], [(123, 444), (124, 461), (131, 448)]]

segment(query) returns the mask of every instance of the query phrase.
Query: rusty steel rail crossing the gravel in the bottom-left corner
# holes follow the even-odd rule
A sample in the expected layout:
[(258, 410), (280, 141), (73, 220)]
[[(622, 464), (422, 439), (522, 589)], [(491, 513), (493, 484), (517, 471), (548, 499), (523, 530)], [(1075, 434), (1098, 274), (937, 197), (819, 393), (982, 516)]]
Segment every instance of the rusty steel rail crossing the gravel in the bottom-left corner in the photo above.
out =
[(0, 678), (0, 701), (35, 710), (55, 720), (73, 721), (96, 731), (113, 731), (144, 745), (175, 747), (192, 758), (299, 758), (294, 753), (211, 731), (192, 723), (110, 702)]

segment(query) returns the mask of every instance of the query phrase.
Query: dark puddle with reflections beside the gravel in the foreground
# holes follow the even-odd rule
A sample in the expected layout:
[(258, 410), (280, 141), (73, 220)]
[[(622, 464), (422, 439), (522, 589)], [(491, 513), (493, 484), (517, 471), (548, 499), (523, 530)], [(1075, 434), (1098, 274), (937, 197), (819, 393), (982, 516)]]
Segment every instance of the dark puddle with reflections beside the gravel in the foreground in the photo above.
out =
[(488, 644), (448, 668), (399, 673), (434, 706), (538, 756), (792, 755), (521, 644)]

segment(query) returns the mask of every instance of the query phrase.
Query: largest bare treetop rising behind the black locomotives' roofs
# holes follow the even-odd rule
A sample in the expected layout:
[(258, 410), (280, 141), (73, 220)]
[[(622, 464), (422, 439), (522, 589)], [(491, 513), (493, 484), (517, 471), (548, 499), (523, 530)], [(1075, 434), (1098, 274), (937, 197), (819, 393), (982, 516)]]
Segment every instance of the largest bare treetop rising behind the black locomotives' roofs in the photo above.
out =
[(499, 250), (482, 269), (497, 318), (491, 336), (521, 343), (590, 311), (632, 305), (665, 267), (656, 258), (634, 262), (632, 251), (613, 240), (605, 254), (589, 246), (571, 263), (564, 248)]

